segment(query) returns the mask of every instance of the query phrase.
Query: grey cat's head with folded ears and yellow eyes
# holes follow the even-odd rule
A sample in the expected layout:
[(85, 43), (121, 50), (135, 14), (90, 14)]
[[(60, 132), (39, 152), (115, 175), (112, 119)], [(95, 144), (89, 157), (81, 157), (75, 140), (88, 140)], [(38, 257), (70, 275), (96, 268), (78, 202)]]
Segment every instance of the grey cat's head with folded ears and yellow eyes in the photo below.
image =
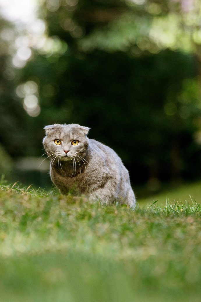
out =
[(54, 124), (44, 127), (46, 136), (43, 145), (49, 157), (58, 156), (61, 160), (82, 156), (89, 145), (87, 133), (90, 128), (78, 124)]

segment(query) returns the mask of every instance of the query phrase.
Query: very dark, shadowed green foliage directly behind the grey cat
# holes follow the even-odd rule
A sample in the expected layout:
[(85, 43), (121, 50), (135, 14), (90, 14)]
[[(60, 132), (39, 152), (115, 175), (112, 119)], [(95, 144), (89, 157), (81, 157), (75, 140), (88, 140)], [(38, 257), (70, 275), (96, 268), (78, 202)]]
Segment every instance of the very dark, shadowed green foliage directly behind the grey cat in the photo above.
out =
[[(184, 162), (189, 156), (189, 143), (191, 156), (200, 148), (192, 142), (199, 130), (199, 124), (192, 124), (200, 114), (196, 80), (195, 101), (191, 101), (191, 93), (188, 104), (179, 99), (187, 89), (187, 85), (183, 88), (184, 82), (189, 79), (191, 84), (195, 74), (191, 56), (168, 50), (142, 58), (121, 52), (96, 51), (81, 57), (67, 54), (52, 62), (47, 62), (49, 57), (38, 56), (24, 68), (22, 82), (37, 82), (41, 113), (34, 120), (27, 117), (29, 137), (21, 146), (20, 141), (16, 142), (21, 152), (42, 154), (44, 125), (79, 123), (91, 128), (90, 138), (115, 149), (133, 183), (146, 181), (149, 176), (185, 176), (191, 168), (194, 176), (199, 175), (197, 164), (192, 166), (191, 161), (190, 168)], [(175, 152), (181, 162), (178, 173), (172, 168), (170, 156), (176, 156), (175, 140), (178, 149), (183, 148), (182, 154)]]

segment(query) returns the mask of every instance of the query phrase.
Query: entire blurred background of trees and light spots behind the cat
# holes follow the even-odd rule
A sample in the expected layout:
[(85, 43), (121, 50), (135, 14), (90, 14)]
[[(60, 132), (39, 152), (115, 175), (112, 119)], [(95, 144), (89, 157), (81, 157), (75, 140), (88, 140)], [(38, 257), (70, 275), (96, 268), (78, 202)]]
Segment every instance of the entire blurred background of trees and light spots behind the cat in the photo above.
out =
[(199, 0), (0, 0), (0, 14), (2, 178), (49, 188), (43, 127), (78, 123), (138, 196), (201, 179)]

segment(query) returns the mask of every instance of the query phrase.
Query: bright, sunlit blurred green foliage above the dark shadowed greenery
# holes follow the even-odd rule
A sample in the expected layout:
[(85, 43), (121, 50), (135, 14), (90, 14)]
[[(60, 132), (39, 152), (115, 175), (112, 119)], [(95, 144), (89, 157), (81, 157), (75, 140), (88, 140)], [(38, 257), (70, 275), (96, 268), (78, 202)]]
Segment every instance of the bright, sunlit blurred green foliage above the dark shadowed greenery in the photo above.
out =
[(71, 5), (61, 1), (50, 6), (48, 1), (43, 6), (49, 34), (60, 36), (78, 51), (121, 50), (134, 56), (167, 48), (199, 51), (199, 0), (87, 0)]

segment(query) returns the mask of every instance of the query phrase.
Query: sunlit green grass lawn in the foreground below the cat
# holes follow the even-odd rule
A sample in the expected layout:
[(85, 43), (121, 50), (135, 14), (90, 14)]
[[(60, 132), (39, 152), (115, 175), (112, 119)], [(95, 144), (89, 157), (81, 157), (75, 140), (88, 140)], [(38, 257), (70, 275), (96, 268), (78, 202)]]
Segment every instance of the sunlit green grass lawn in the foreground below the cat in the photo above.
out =
[(200, 215), (1, 185), (0, 301), (200, 301)]

